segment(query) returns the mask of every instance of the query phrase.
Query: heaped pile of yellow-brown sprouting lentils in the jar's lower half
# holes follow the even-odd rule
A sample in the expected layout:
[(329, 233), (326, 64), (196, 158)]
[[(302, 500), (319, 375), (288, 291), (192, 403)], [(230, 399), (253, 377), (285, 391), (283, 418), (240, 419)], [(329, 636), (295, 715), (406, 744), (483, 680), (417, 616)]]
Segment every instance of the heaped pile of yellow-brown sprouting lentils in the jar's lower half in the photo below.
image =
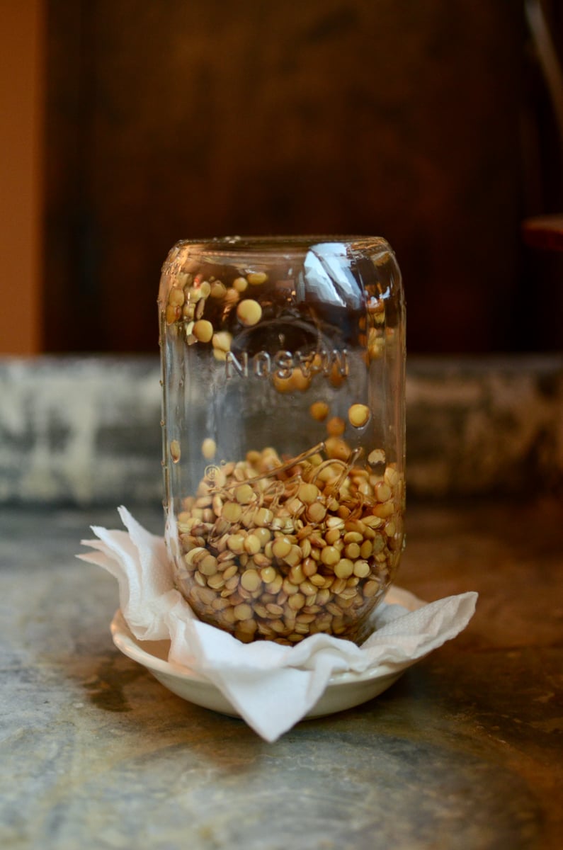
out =
[(401, 474), (273, 448), (208, 467), (177, 518), (180, 592), (202, 620), (248, 643), (292, 645), (318, 632), (360, 642), (402, 544)]

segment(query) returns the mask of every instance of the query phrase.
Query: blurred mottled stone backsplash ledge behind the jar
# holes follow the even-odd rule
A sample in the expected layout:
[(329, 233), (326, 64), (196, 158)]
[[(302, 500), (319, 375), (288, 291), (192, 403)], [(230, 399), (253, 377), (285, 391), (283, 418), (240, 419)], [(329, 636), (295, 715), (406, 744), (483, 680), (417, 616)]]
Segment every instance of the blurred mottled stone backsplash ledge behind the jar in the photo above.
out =
[[(0, 504), (162, 496), (154, 357), (0, 357)], [(316, 440), (315, 440), (316, 441)], [(407, 360), (408, 492), (563, 490), (563, 354)]]

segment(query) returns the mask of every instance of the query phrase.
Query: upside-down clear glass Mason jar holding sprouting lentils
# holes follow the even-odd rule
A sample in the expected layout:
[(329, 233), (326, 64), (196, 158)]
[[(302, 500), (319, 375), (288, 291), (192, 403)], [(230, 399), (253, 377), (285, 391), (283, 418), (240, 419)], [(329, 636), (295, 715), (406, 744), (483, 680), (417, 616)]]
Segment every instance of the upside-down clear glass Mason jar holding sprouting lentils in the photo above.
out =
[(403, 544), (405, 309), (390, 245), (180, 241), (158, 300), (179, 591), (244, 642), (361, 643)]

